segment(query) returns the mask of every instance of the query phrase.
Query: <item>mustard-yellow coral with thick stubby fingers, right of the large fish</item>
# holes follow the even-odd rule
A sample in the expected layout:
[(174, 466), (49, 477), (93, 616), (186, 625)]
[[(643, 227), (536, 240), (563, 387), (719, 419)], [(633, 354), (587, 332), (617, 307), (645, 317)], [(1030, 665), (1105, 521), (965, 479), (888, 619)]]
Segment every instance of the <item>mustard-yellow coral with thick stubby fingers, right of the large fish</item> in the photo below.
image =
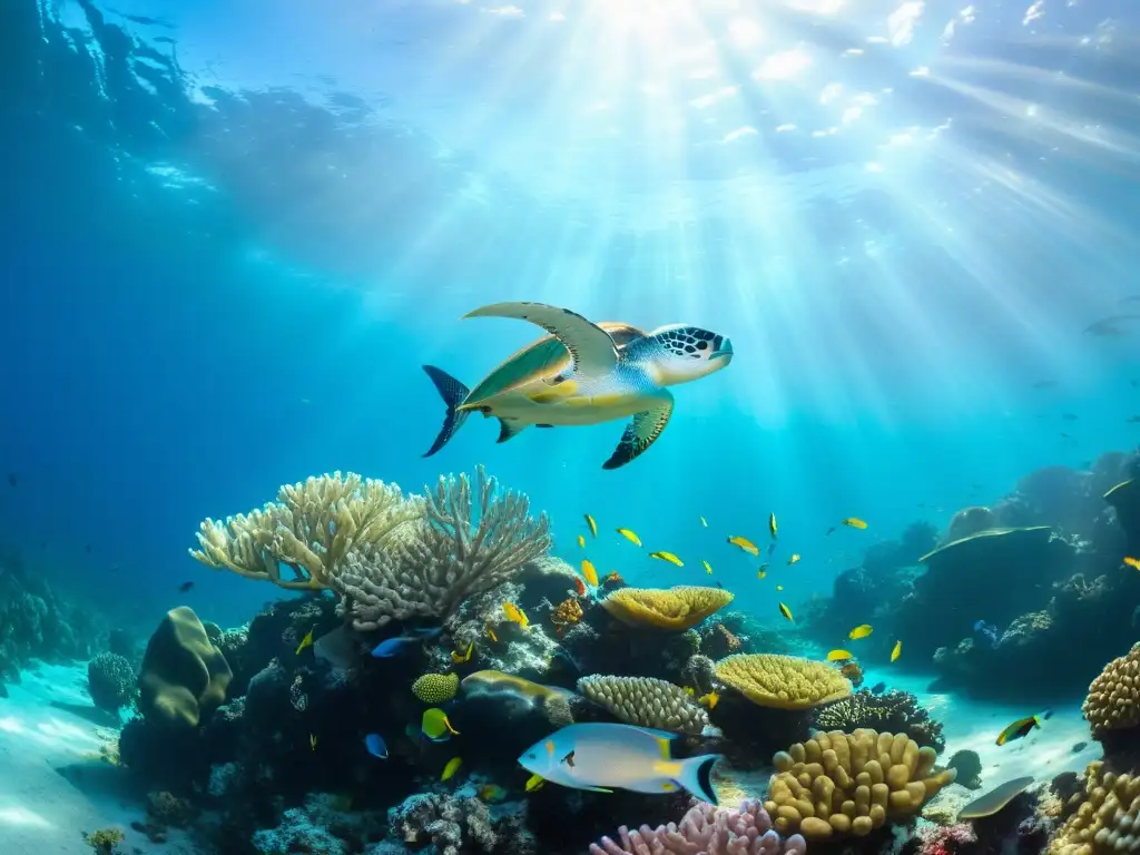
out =
[(931, 775), (935, 750), (906, 734), (865, 730), (813, 733), (772, 762), (777, 771), (764, 807), (781, 834), (808, 840), (863, 837), (888, 819), (912, 816), (955, 775)]

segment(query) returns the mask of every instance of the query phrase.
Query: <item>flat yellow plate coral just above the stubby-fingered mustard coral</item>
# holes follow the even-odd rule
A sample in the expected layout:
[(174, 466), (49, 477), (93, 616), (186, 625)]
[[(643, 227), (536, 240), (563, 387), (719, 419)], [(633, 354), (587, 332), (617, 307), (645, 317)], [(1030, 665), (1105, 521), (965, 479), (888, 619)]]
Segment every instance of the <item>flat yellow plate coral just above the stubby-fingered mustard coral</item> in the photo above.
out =
[(842, 700), (850, 683), (826, 662), (775, 653), (738, 653), (716, 663), (716, 677), (752, 703), (808, 709)]

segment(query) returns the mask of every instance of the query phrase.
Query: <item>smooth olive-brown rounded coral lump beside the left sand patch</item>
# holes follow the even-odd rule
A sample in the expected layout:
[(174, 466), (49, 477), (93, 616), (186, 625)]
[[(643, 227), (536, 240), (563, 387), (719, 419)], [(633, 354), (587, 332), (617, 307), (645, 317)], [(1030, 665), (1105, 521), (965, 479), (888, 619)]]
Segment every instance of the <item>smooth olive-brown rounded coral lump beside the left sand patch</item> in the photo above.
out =
[(194, 610), (171, 609), (142, 657), (139, 710), (150, 720), (196, 727), (226, 700), (231, 676)]

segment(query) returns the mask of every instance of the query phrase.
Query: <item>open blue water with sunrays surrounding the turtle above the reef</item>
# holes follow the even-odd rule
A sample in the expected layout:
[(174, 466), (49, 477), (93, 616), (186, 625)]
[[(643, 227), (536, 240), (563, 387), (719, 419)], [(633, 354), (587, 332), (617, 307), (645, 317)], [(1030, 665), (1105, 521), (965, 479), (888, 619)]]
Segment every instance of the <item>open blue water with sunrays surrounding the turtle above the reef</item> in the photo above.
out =
[[(9, 0), (2, 539), (142, 625), (237, 624), (278, 592), (194, 562), (199, 520), (486, 463), (563, 557), (588, 512), (601, 571), (705, 559), (776, 625), (775, 584), (797, 609), (913, 520), (1137, 443), (1140, 323), (1082, 331), (1140, 294), (1140, 11), (653, 8)], [(736, 358), (614, 472), (618, 423), (473, 418), (423, 459), (421, 364), (472, 384), (535, 337), (459, 320), (500, 300)], [(769, 512), (803, 560), (762, 584), (726, 537), (766, 546)]]

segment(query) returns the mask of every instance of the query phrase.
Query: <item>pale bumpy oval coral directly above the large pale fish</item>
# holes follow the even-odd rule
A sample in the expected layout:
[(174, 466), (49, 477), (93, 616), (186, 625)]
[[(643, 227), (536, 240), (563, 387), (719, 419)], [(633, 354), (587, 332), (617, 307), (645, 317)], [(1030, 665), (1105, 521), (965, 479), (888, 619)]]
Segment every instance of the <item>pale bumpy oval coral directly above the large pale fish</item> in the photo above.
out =
[(578, 691), (626, 724), (697, 736), (709, 723), (684, 689), (654, 677), (592, 675), (578, 681)]

